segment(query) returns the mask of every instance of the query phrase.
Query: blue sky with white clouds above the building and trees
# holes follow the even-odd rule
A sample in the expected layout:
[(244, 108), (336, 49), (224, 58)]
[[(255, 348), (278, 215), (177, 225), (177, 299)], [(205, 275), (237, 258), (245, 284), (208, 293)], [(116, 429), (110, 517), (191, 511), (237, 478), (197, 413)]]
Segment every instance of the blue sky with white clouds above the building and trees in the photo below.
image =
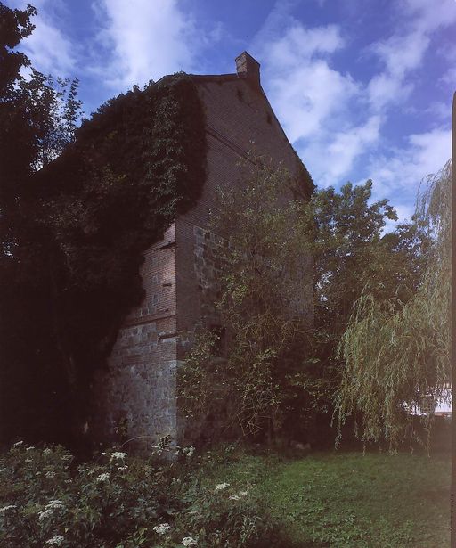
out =
[(455, 0), (29, 1), (23, 49), (38, 70), (80, 79), (86, 115), (177, 70), (234, 72), (248, 50), (319, 186), (371, 178), (403, 220), (451, 156)]

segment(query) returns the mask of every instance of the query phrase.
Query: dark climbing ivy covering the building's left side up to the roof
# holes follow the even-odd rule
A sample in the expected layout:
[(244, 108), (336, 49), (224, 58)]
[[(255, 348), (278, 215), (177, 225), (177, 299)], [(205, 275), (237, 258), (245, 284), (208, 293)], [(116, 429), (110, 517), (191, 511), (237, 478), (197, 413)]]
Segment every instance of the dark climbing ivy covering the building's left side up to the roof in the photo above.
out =
[(6, 353), (38, 437), (82, 425), (94, 369), (142, 299), (143, 252), (198, 199), (205, 166), (204, 110), (181, 73), (102, 104), (30, 179), (12, 281), (22, 337)]

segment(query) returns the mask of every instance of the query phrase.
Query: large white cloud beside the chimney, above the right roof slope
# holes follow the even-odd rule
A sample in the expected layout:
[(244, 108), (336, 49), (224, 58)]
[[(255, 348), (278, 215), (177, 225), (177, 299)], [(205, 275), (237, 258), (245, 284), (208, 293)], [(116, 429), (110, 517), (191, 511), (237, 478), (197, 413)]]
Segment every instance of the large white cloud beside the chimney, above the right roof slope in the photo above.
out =
[(266, 93), (317, 184), (337, 184), (379, 139), (381, 117), (366, 113), (354, 122), (362, 86), (330, 66), (330, 55), (345, 46), (340, 29), (307, 29), (278, 10), (256, 37)]

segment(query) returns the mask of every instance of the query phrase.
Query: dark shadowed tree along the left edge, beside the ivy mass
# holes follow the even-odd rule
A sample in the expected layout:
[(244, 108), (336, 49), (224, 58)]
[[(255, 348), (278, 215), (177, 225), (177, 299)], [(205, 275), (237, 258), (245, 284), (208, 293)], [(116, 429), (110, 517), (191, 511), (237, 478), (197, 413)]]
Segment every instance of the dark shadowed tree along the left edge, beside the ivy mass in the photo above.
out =
[[(30, 5), (13, 10), (0, 3), (2, 438), (17, 433), (19, 426), (22, 432), (27, 430), (37, 421), (37, 408), (59, 414), (51, 403), (58, 393), (59, 374), (48, 377), (52, 360), (41, 367), (45, 358), (32, 342), (49, 339), (45, 295), (50, 269), (42, 238), (43, 186), (38, 184), (37, 171), (74, 139), (81, 103), (77, 79), (54, 82), (16, 51), (20, 40), (33, 31), (31, 18), (36, 13)], [(49, 386), (42, 390), (45, 380)]]

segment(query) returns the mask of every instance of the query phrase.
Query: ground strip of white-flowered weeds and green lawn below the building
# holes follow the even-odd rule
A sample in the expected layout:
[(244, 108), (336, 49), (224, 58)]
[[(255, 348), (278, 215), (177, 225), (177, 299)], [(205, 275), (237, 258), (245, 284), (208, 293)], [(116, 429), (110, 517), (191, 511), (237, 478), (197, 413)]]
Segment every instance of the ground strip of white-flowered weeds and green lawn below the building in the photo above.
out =
[(12, 548), (430, 548), (449, 540), (448, 455), (233, 446), (178, 460), (123, 449), (77, 463), (22, 442), (0, 458), (0, 543)]

